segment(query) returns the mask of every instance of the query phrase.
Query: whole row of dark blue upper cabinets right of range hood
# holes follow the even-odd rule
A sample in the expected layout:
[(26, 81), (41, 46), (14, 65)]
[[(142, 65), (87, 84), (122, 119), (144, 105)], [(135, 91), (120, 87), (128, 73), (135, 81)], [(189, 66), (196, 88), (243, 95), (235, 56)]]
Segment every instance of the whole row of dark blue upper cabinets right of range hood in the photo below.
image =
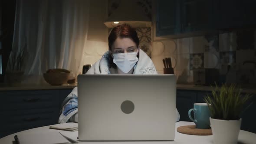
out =
[(256, 26), (256, 0), (157, 0), (156, 36), (183, 38)]

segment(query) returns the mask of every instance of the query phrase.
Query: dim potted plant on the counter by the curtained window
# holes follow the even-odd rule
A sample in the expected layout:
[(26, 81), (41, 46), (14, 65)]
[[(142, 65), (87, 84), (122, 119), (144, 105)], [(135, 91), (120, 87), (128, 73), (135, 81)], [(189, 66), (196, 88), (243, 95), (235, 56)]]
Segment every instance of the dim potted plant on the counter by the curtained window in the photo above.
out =
[(6, 83), (9, 85), (19, 85), (23, 80), (24, 71), (22, 67), (24, 65), (25, 52), (26, 43), (23, 48), (18, 49), (17, 52), (12, 50), (10, 53), (6, 72)]

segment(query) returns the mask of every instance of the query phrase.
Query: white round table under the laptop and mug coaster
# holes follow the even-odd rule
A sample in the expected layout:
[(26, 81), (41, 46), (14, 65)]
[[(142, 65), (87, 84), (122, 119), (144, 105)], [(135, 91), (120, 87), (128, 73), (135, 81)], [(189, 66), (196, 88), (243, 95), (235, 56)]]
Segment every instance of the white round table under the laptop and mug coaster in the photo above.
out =
[[(179, 121), (176, 123), (176, 129), (179, 126), (183, 125), (194, 125), (193, 122), (187, 122), (187, 121)], [(78, 131), (60, 131), (60, 130), (54, 130), (49, 129), (49, 126), (39, 127), (39, 128), (33, 128), (26, 131), (20, 131), (15, 134), (10, 134), (6, 137), (3, 137), (0, 139), (0, 144), (13, 144), (12, 141), (14, 141), (14, 136), (16, 134), (29, 134), (31, 132), (48, 132), (48, 131), (59, 131), (62, 134), (66, 135), (67, 137), (72, 138), (73, 140), (77, 140), (78, 137)], [(28, 137), (29, 138), (29, 137)], [(238, 144), (256, 144), (256, 134), (240, 130), (239, 137), (238, 137)], [(213, 144), (213, 136), (195, 136), (195, 135), (188, 135), (188, 134), (181, 134), (176, 131), (175, 133), (175, 139), (174, 141), (125, 141), (125, 142), (84, 142), (84, 141), (78, 141), (79, 144)]]

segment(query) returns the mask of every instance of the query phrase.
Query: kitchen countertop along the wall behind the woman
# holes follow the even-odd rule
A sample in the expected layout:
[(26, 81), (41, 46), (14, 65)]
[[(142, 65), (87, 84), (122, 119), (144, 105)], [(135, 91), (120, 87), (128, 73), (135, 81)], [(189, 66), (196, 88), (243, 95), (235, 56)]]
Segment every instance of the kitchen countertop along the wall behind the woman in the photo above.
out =
[[(0, 85), (0, 91), (15, 91), (15, 90), (46, 90), (46, 89), (72, 89), (75, 88), (77, 84), (64, 84), (53, 86), (49, 84), (43, 85), (20, 85), (20, 86), (6, 86)], [(213, 90), (210, 86), (204, 85), (177, 85), (178, 90), (193, 90), (193, 91), (211, 91)], [(256, 94), (255, 86), (242, 87), (242, 92)]]

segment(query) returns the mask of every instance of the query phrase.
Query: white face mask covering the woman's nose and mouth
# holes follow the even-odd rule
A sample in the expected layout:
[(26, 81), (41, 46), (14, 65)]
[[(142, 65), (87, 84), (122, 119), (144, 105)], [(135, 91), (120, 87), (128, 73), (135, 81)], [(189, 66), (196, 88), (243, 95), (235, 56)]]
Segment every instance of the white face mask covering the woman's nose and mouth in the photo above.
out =
[(122, 72), (128, 73), (138, 62), (137, 52), (114, 53), (113, 62), (118, 66)]

